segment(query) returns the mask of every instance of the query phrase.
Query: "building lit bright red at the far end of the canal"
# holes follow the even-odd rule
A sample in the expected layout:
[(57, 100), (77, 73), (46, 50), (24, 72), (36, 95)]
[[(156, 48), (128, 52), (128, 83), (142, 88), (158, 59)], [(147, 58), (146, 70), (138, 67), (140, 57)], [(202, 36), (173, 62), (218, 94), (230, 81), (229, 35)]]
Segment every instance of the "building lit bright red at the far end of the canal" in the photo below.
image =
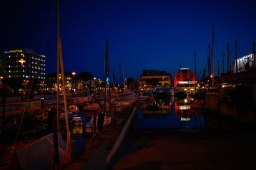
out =
[(195, 92), (196, 73), (190, 73), (189, 68), (180, 68), (179, 73), (174, 72), (174, 87), (179, 91)]

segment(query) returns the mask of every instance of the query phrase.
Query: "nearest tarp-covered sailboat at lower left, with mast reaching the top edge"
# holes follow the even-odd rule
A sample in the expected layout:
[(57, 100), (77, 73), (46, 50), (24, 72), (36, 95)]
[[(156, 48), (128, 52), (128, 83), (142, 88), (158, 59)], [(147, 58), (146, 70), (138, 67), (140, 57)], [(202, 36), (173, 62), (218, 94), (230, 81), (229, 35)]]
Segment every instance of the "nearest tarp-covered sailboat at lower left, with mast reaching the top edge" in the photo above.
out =
[(65, 75), (63, 67), (63, 54), (61, 49), (61, 37), (60, 37), (60, 0), (58, 1), (58, 32), (57, 32), (57, 121), (52, 127), (54, 132), (48, 134), (43, 138), (31, 143), (30, 145), (21, 148), (12, 153), (12, 164), (15, 169), (54, 169), (61, 164), (65, 164), (70, 161), (71, 155), (71, 140), (70, 140), (70, 128), (68, 122), (68, 107), (67, 107), (67, 96), (65, 90), (63, 90), (63, 101), (65, 106), (65, 121), (67, 128), (67, 142), (65, 143), (59, 132), (59, 69), (61, 67), (61, 80), (62, 86), (65, 87)]

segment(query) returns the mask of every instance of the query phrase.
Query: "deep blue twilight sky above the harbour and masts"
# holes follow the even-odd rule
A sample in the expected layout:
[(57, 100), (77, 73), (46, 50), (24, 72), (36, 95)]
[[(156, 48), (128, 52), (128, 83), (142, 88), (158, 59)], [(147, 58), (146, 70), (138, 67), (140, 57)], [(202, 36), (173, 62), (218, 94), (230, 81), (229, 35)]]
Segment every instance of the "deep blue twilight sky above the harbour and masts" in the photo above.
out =
[[(103, 78), (103, 55), (109, 41), (110, 71), (119, 79), (136, 79), (143, 69), (172, 74), (182, 67), (197, 73), (212, 44), (214, 66), (222, 61), (227, 42), (235, 59), (252, 52), (256, 40), (256, 1), (61, 1), (61, 39), (65, 71), (88, 71)], [(56, 72), (56, 1), (1, 1), (0, 50), (34, 49), (46, 55), (46, 73)], [(206, 66), (206, 64), (204, 64)], [(206, 67), (205, 67), (206, 68)], [(221, 69), (222, 70), (222, 69)], [(201, 73), (202, 75), (202, 73)]]

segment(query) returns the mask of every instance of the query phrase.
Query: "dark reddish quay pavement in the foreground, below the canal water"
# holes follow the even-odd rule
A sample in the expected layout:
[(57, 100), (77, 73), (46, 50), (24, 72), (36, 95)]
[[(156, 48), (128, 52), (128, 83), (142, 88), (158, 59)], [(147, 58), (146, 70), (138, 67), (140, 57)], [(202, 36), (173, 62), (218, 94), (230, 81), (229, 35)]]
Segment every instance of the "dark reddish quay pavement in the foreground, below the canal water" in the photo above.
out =
[(256, 169), (253, 132), (133, 131), (111, 169)]

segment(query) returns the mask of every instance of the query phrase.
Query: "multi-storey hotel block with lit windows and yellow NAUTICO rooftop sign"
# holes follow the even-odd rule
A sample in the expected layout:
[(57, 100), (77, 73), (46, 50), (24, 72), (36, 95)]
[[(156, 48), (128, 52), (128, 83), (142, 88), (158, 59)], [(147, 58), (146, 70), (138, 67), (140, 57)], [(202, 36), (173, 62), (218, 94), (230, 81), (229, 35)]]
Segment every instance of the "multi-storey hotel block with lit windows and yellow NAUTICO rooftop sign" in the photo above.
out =
[(6, 69), (6, 78), (45, 80), (45, 55), (37, 54), (27, 48), (17, 48), (3, 52), (1, 58)]

